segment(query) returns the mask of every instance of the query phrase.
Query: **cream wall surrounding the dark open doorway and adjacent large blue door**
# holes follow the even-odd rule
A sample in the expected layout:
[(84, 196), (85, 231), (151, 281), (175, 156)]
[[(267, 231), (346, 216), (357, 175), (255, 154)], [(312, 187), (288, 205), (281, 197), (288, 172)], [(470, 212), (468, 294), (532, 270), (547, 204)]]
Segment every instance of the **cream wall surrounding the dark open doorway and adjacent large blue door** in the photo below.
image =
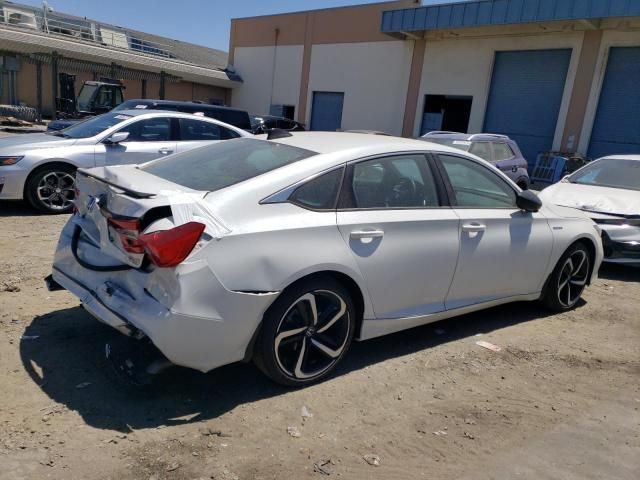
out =
[(553, 148), (559, 149), (582, 48), (582, 32), (544, 35), (427, 40), (413, 134), (420, 132), (425, 95), (473, 97), (469, 133), (482, 131), (496, 51), (571, 48), (573, 50)]

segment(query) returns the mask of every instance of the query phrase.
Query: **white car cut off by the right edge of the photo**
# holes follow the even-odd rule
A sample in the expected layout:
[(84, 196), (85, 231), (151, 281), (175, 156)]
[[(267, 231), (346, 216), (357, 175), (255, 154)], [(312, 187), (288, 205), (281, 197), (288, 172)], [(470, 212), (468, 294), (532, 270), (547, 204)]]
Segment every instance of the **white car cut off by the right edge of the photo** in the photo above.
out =
[(605, 261), (640, 265), (640, 155), (593, 161), (540, 198), (586, 212), (602, 228)]

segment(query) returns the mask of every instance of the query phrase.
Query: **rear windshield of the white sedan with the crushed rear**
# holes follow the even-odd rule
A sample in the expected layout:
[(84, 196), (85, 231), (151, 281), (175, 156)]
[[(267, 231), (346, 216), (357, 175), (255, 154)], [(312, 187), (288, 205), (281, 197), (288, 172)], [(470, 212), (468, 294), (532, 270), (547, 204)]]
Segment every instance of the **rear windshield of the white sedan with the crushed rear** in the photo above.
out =
[(193, 190), (216, 191), (316, 152), (265, 140), (237, 138), (154, 160), (141, 170)]

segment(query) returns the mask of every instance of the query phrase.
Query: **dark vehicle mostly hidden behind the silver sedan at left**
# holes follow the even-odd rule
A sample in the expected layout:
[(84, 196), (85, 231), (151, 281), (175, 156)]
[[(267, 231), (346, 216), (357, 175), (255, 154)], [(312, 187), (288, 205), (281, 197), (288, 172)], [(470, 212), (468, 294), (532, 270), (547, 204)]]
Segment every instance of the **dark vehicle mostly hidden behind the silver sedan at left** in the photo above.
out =
[[(237, 108), (223, 107), (221, 105), (209, 105), (200, 102), (178, 102), (174, 100), (135, 99), (125, 100), (111, 111), (119, 112), (121, 110), (165, 110), (192, 113), (194, 115), (215, 118), (221, 122), (246, 130), (247, 132), (252, 131), (251, 121), (247, 112)], [(47, 130), (62, 130), (79, 121), (81, 120), (55, 120), (49, 122)]]

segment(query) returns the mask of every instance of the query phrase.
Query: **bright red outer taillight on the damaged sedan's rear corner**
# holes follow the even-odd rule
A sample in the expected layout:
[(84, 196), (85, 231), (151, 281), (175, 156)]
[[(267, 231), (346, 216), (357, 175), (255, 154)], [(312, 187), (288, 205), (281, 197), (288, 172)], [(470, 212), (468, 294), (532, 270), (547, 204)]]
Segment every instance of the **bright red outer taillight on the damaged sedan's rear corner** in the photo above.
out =
[(202, 223), (189, 222), (171, 230), (140, 235), (137, 241), (154, 264), (175, 267), (191, 253), (204, 229)]

